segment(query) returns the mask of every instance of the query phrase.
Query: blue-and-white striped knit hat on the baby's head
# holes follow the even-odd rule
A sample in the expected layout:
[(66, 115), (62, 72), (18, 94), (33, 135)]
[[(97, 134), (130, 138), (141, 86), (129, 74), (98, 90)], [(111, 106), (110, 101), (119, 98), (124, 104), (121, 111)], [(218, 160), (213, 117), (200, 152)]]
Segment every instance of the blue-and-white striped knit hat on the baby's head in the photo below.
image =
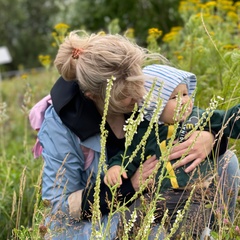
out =
[[(197, 78), (193, 73), (176, 69), (167, 65), (153, 64), (143, 68), (145, 75), (145, 88), (149, 92), (152, 84), (156, 81), (156, 86), (153, 89), (150, 103), (145, 109), (145, 118), (150, 121), (154, 110), (157, 108), (157, 101), (159, 97), (162, 99), (161, 110), (158, 114), (162, 114), (173, 90), (181, 83), (184, 83), (188, 87), (188, 94), (191, 96), (196, 88)], [(159, 91), (161, 93), (159, 94)], [(194, 99), (193, 99), (194, 100)], [(141, 107), (142, 104), (140, 104)], [(162, 122), (159, 121), (159, 124)]]

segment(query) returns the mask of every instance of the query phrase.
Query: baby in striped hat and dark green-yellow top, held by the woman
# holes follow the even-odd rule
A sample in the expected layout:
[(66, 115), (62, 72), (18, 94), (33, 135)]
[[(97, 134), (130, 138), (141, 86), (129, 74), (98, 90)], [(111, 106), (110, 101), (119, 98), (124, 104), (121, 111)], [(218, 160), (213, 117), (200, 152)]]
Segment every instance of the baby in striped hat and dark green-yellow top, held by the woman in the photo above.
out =
[[(201, 233), (206, 225), (206, 221), (204, 222), (203, 218), (208, 219), (210, 216), (209, 212), (206, 213), (206, 209), (204, 209), (202, 203), (206, 204), (208, 200), (212, 200), (214, 194), (212, 187), (209, 187), (211, 181), (208, 181), (209, 177), (213, 175), (214, 161), (207, 159), (198, 166), (196, 171), (193, 173), (186, 173), (184, 171), (186, 166), (173, 169), (172, 163), (174, 164), (177, 160), (170, 162), (166, 159), (161, 159), (161, 155), (163, 151), (165, 151), (167, 143), (174, 134), (174, 124), (179, 124), (175, 138), (178, 138), (181, 142), (187, 137), (189, 131), (198, 126), (197, 124), (199, 124), (201, 117), (206, 114), (206, 111), (193, 107), (191, 95), (196, 87), (196, 76), (192, 73), (165, 65), (150, 65), (145, 67), (143, 72), (148, 76), (145, 83), (145, 88), (148, 91), (151, 89), (154, 79), (156, 79), (157, 87), (161, 88), (160, 98), (162, 99), (162, 107), (159, 112), (158, 122), (160, 146), (156, 139), (156, 129), (153, 127), (144, 148), (144, 159), (146, 159), (147, 156), (156, 154), (157, 158), (163, 162), (158, 170), (156, 181), (158, 182), (158, 176), (164, 171), (160, 183), (160, 192), (163, 194), (166, 201), (159, 201), (158, 207), (161, 208), (161, 205), (165, 205), (165, 207), (168, 208), (169, 215), (173, 216), (170, 223), (173, 223), (175, 221), (176, 211), (184, 207), (189, 197), (189, 192), (192, 189), (192, 185), (196, 185), (198, 182), (197, 186), (201, 186), (199, 192), (201, 192), (202, 195), (196, 191), (191, 206), (189, 207), (189, 216), (187, 217), (187, 221), (189, 221), (188, 225), (190, 224), (190, 226), (192, 226), (194, 218), (198, 222), (198, 226), (194, 230), (194, 234), (198, 236), (198, 232)], [(146, 108), (145, 120), (140, 123), (137, 134), (135, 134), (132, 144), (127, 149), (126, 156), (131, 156), (136, 146), (141, 142), (149, 126), (149, 122), (153, 117), (154, 110), (157, 108), (159, 98), (156, 87), (152, 95), (150, 106)], [(198, 128), (202, 126), (205, 130), (210, 129), (216, 134), (223, 131), (223, 136), (225, 137), (239, 138), (240, 120), (239, 117), (237, 117), (240, 113), (239, 109), (240, 105), (227, 111), (214, 110), (209, 122), (203, 120)], [(132, 162), (128, 162), (129, 158), (126, 158), (126, 160), (122, 162), (122, 155), (123, 152), (109, 160), (108, 171), (104, 177), (106, 184), (121, 184), (120, 173), (122, 172), (122, 168), (124, 168), (122, 177), (129, 178), (139, 167), (141, 163), (140, 151)], [(208, 199), (206, 199), (206, 196)], [(196, 198), (198, 198), (198, 201)], [(200, 202), (202, 203), (200, 204)], [(158, 213), (156, 217), (161, 218), (163, 212), (164, 210), (162, 213)], [(201, 212), (198, 217), (196, 217), (197, 212)]]

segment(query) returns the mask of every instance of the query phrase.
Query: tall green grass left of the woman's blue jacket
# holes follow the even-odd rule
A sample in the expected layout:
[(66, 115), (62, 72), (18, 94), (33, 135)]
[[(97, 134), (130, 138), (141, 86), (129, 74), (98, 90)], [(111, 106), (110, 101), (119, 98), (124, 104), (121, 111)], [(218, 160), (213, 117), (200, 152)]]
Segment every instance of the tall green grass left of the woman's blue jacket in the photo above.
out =
[[(1, 84), (7, 119), (0, 115), (0, 239), (41, 238), (38, 229), (45, 211), (40, 200), (43, 160), (33, 159), (31, 153), (36, 132), (29, 125), (28, 112), (49, 93), (57, 77), (56, 71), (50, 71), (4, 80)], [(235, 144), (234, 148), (239, 149), (237, 141), (231, 142), (232, 146)], [(239, 152), (237, 155), (240, 156)], [(238, 205), (236, 222), (224, 226), (223, 231), (235, 232), (234, 228), (240, 226), (239, 216)]]

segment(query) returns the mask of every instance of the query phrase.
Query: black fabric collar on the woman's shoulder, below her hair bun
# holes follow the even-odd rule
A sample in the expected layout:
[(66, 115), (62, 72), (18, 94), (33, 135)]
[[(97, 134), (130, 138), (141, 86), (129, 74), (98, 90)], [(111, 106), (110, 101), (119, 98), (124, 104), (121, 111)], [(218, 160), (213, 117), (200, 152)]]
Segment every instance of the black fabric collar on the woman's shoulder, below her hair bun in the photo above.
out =
[(50, 94), (58, 116), (81, 141), (100, 132), (102, 117), (94, 103), (84, 97), (77, 82), (60, 77)]

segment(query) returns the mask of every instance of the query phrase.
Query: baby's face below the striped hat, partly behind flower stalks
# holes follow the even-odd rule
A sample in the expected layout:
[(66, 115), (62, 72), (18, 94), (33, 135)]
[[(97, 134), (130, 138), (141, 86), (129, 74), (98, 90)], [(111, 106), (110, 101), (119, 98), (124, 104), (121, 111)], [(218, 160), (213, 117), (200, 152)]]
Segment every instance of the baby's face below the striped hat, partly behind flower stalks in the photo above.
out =
[(160, 121), (167, 124), (185, 121), (192, 112), (193, 104), (188, 95), (186, 84), (179, 84), (172, 92), (163, 112)]

